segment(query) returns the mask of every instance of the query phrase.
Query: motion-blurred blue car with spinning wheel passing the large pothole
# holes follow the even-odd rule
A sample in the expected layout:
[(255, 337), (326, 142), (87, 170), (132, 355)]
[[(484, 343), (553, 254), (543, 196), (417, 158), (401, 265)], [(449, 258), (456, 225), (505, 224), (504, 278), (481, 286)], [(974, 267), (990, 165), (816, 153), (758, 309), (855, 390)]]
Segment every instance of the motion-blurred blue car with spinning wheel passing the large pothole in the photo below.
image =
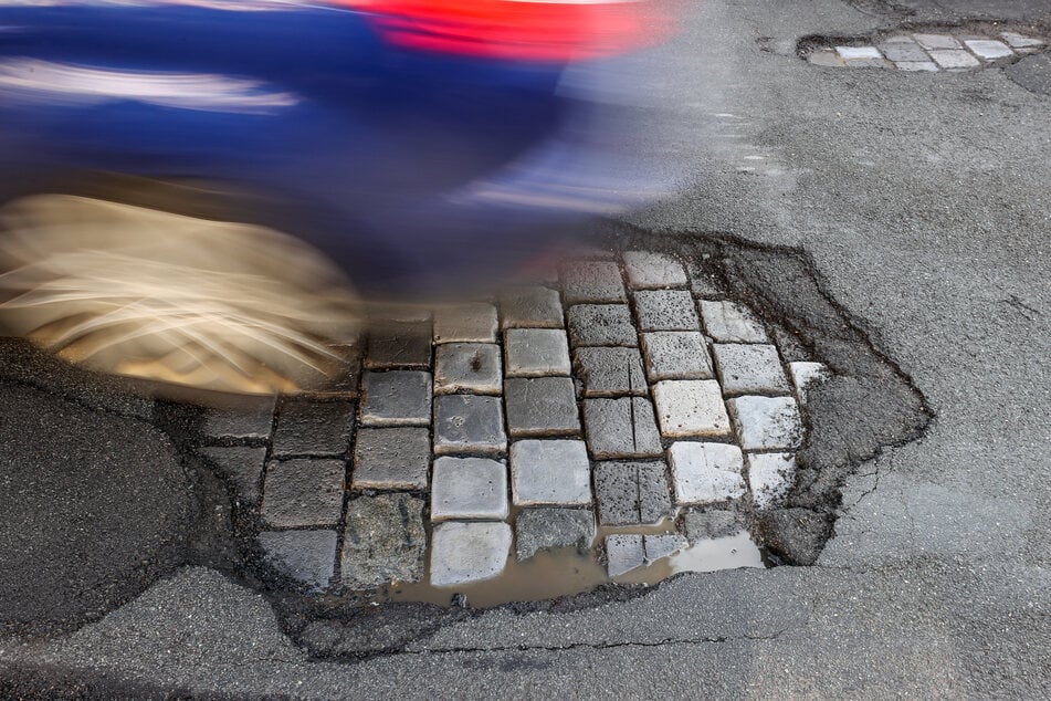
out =
[[(0, 1), (0, 226), (10, 234), (0, 321), (71, 359), (108, 354), (96, 364), (137, 374), (180, 338), (198, 356), (208, 349), (186, 335), (202, 313), (146, 304), (175, 294), (151, 285), (201, 286), (188, 272), (201, 268), (204, 287), (232, 274), (243, 283), (252, 269), (231, 260), (238, 251), (283, 276), (288, 299), (343, 283), (418, 294), (507, 274), (581, 218), (664, 191), (666, 168), (627, 148), (644, 119), (617, 66), (670, 25), (653, 0)], [(217, 221), (238, 233), (200, 223)], [(84, 274), (90, 265), (71, 254), (92, 247), (108, 253)], [(106, 270), (118, 261), (122, 275), (164, 263), (178, 274), (154, 270), (116, 294)], [(249, 287), (239, 292), (261, 294)], [(45, 294), (54, 289), (64, 296)], [(99, 297), (124, 316), (85, 327), (99, 315), (85, 304)], [(48, 299), (80, 304), (76, 318), (34, 318), (28, 310)], [(149, 334), (128, 324), (159, 306), (170, 343), (129, 347), (125, 336)], [(274, 314), (274, 327), (309, 327), (299, 341), (340, 327), (329, 307), (316, 324), (301, 302)], [(114, 324), (123, 345), (85, 345)]]

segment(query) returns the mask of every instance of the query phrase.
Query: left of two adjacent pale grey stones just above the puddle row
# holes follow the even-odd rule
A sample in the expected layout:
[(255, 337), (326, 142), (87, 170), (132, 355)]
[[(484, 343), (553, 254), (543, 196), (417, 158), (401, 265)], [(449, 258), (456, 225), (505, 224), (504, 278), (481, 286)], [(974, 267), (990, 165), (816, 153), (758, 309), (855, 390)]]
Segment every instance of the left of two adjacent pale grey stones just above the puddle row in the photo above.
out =
[(439, 458), (431, 480), (431, 521), (507, 517), (507, 467), (486, 458)]

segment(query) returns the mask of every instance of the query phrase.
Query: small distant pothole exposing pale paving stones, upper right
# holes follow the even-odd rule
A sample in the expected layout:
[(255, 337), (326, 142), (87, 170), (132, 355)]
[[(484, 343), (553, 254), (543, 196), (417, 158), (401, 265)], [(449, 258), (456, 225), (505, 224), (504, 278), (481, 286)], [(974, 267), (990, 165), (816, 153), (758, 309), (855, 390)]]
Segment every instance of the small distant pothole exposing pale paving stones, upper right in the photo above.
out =
[(1009, 65), (1042, 52), (1047, 36), (1029, 29), (927, 28), (853, 36), (807, 36), (800, 57), (819, 66), (911, 72), (974, 71)]

